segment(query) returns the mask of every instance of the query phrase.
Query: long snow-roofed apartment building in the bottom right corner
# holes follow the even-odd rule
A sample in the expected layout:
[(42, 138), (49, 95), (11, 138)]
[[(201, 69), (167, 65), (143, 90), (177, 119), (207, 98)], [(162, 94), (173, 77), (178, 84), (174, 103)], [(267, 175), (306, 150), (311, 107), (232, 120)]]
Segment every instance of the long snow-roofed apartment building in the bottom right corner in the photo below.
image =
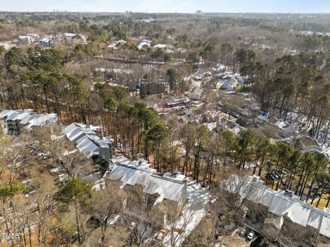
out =
[[(330, 240), (330, 213), (299, 200), (289, 191), (269, 189), (258, 176), (232, 175), (223, 181), (221, 187), (238, 193), (240, 200), (252, 203), (253, 209), (265, 207), (268, 220), (262, 222), (264, 225), (273, 224), (281, 229), (285, 224), (296, 224), (297, 227), (308, 228), (309, 233), (318, 233), (322, 238)], [(308, 239), (303, 241), (308, 242)]]

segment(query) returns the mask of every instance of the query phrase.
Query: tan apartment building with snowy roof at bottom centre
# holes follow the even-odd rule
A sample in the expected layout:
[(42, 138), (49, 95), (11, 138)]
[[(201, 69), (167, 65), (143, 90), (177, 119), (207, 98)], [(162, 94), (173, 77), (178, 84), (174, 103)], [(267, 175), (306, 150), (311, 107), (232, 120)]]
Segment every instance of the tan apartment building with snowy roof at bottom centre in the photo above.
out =
[(177, 209), (186, 202), (188, 178), (179, 172), (159, 174), (156, 169), (149, 167), (146, 161), (115, 163), (111, 172), (104, 178), (117, 180), (122, 184), (122, 189), (129, 195), (126, 203), (127, 213), (140, 214), (136, 200), (143, 193), (148, 198), (147, 206), (154, 212), (153, 220), (159, 226), (168, 224), (168, 209)]

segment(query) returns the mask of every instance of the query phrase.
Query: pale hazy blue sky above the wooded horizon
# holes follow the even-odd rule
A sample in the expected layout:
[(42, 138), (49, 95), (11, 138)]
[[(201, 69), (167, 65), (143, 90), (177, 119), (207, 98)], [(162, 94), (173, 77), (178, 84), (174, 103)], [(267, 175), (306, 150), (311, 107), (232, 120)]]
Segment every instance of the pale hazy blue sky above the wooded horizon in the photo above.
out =
[(0, 0), (0, 11), (330, 12), (330, 0)]

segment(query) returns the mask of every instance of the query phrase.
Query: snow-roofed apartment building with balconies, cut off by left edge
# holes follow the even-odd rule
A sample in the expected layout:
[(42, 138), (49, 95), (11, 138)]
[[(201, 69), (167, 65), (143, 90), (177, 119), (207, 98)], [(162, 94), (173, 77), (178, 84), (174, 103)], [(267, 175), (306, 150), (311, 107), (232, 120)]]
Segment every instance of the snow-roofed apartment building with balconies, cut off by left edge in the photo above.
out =
[(0, 124), (3, 134), (21, 134), (31, 132), (33, 128), (40, 126), (59, 125), (58, 116), (52, 114), (36, 114), (33, 109), (3, 110), (0, 113)]

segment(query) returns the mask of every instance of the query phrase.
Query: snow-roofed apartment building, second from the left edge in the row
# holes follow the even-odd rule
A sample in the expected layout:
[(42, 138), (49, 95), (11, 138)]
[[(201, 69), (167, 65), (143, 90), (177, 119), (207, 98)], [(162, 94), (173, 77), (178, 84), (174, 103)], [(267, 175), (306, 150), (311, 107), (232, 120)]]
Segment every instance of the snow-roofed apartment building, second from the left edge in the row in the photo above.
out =
[(91, 158), (94, 163), (109, 165), (113, 155), (114, 141), (100, 137), (98, 127), (72, 123), (63, 128), (63, 133), (83, 155)]

